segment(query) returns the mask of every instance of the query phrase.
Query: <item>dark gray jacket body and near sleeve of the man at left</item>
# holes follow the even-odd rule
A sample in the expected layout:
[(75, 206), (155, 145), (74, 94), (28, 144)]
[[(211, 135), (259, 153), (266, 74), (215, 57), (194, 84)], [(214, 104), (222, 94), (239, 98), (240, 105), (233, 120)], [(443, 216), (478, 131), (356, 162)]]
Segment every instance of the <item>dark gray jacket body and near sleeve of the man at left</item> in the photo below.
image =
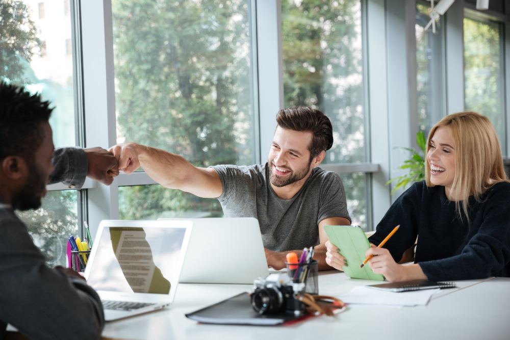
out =
[(0, 323), (32, 339), (67, 340), (77, 330), (83, 340), (101, 335), (105, 318), (97, 293), (84, 280), (46, 267), (11, 208), (0, 209), (0, 287)]

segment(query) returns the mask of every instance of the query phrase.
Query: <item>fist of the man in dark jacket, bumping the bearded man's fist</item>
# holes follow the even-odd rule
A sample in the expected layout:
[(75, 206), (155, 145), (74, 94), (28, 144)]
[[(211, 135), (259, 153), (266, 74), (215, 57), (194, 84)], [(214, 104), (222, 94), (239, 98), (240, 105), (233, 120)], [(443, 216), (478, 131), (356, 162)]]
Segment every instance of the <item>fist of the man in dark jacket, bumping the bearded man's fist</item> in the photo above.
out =
[(87, 154), (87, 177), (107, 186), (112, 184), (113, 177), (119, 174), (119, 165), (113, 153), (100, 147), (83, 150)]

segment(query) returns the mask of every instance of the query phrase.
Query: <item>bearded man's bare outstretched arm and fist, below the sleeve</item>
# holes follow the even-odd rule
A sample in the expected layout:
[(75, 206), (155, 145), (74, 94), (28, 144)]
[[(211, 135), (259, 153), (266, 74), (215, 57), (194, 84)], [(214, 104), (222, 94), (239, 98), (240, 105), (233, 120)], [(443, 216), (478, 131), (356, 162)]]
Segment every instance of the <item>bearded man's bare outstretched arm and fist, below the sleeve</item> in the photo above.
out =
[(223, 192), (214, 169), (194, 167), (180, 155), (136, 143), (118, 144), (110, 151), (124, 173), (131, 174), (141, 166), (150, 178), (166, 188), (204, 198), (218, 198)]

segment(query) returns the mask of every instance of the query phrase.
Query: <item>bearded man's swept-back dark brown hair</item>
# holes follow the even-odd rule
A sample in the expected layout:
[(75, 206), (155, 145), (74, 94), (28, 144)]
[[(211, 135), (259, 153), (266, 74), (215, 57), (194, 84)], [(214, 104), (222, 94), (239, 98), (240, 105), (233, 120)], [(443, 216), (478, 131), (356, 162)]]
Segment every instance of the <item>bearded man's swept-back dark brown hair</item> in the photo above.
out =
[(283, 109), (276, 114), (276, 122), (282, 128), (295, 131), (311, 132), (312, 142), (308, 146), (310, 150), (310, 162), (317, 157), (322, 150), (326, 151), (333, 146), (333, 126), (322, 112), (309, 107)]

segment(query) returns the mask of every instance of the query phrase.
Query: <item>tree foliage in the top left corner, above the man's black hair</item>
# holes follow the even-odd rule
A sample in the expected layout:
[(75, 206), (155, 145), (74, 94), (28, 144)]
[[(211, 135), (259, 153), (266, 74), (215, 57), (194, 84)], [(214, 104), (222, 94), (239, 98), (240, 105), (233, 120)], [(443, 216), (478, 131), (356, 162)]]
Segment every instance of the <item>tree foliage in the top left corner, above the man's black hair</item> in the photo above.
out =
[(27, 5), (20, 0), (0, 1), (0, 79), (27, 82), (25, 69), (40, 45)]

